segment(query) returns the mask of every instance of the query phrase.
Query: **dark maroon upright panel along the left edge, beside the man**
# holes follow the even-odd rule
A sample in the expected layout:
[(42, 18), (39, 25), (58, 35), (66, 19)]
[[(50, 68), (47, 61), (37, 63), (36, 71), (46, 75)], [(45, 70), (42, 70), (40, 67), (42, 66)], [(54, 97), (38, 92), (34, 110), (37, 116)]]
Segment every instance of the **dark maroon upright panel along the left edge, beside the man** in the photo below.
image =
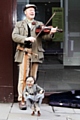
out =
[(12, 28), (15, 0), (0, 0), (0, 102), (14, 101)]

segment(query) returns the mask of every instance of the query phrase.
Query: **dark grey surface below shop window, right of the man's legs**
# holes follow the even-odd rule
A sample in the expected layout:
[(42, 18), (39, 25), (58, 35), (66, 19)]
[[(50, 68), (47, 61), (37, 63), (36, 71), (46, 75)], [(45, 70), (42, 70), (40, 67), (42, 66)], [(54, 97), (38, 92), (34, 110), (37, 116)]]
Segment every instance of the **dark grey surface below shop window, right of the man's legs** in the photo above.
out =
[(37, 83), (46, 92), (80, 90), (80, 69), (64, 68), (62, 64), (41, 64)]

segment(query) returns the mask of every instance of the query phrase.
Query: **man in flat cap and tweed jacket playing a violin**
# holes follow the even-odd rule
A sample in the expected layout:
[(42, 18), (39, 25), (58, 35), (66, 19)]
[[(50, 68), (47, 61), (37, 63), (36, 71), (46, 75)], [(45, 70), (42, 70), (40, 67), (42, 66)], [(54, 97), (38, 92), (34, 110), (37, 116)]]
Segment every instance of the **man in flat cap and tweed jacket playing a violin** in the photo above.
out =
[[(38, 64), (43, 62), (44, 50), (42, 48), (42, 39), (52, 39), (53, 34), (57, 31), (57, 28), (52, 28), (49, 34), (36, 37), (36, 28), (43, 25), (42, 22), (34, 19), (36, 6), (34, 4), (27, 4), (23, 11), (26, 19), (17, 22), (12, 32), (12, 39), (18, 44), (15, 62), (19, 63), (18, 101), (21, 110), (26, 109), (26, 104), (22, 97), (25, 78), (29, 76), (30, 72), (30, 76), (34, 76), (36, 80)], [(29, 59), (31, 59), (30, 70)]]

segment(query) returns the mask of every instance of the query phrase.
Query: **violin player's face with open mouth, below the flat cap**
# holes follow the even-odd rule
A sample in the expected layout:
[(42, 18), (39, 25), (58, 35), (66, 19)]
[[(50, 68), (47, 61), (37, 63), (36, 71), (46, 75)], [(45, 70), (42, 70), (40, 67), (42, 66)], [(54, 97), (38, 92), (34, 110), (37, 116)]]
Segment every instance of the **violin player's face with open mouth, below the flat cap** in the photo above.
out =
[(27, 17), (29, 20), (34, 19), (34, 17), (35, 17), (35, 9), (34, 9), (33, 7), (27, 8), (27, 9), (25, 10), (25, 15), (26, 15), (26, 17)]

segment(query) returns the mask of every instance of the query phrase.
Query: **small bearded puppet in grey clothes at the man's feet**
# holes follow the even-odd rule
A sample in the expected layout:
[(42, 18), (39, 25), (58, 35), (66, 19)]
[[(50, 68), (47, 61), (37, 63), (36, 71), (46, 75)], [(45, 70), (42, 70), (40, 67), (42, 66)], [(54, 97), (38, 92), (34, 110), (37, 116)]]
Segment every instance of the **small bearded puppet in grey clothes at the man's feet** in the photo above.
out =
[(32, 109), (32, 114), (40, 116), (40, 106), (44, 98), (44, 89), (35, 83), (34, 77), (26, 78), (26, 87), (24, 89), (23, 95), (27, 102), (27, 105)]

